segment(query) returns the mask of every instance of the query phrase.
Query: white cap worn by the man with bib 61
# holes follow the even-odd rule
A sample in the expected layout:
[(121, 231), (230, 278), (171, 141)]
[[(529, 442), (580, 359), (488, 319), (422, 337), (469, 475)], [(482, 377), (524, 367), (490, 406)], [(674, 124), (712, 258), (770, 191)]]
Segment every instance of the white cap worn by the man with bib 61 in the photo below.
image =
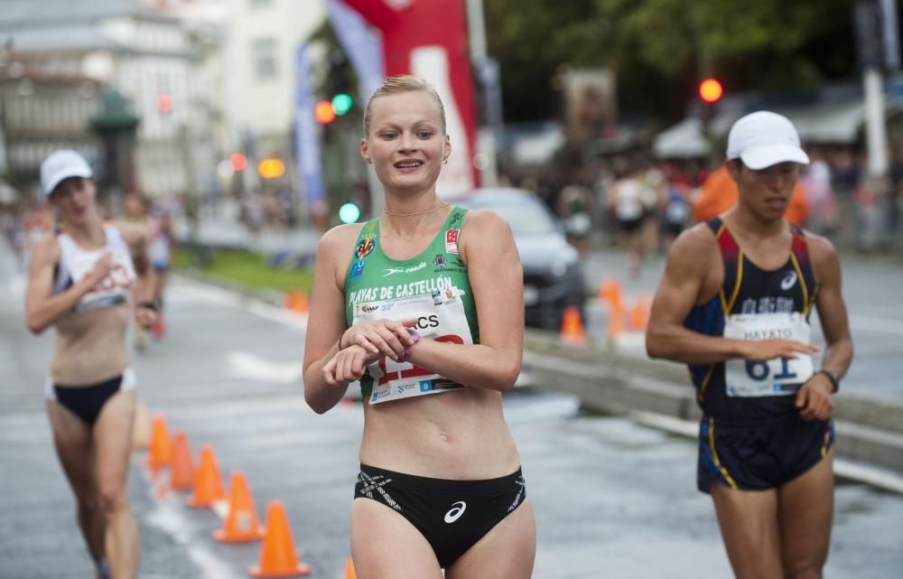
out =
[(809, 155), (799, 146), (793, 123), (767, 110), (750, 113), (731, 126), (727, 155), (757, 171), (788, 161), (809, 164)]

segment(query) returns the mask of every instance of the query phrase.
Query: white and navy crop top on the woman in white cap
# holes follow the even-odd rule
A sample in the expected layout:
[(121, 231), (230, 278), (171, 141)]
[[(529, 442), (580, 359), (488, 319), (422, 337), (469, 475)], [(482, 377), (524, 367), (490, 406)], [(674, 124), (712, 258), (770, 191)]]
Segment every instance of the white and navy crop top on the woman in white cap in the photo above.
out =
[(132, 294), (132, 285), (136, 278), (132, 252), (115, 227), (104, 226), (104, 236), (107, 243), (98, 249), (83, 249), (65, 233), (57, 236), (57, 242), (60, 244), (60, 262), (57, 264), (53, 279), (53, 294), (60, 294), (70, 285), (78, 284), (91, 272), (105, 252), (108, 251), (113, 257), (113, 267), (107, 277), (81, 296), (79, 303), (75, 304), (75, 312), (125, 304)]

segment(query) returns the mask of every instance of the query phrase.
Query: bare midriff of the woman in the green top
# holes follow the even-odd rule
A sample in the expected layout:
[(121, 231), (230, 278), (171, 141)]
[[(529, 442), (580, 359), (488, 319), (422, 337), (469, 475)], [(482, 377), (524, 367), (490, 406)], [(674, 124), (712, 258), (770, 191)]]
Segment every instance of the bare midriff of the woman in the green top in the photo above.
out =
[(360, 462), (464, 481), (515, 472), (520, 456), (505, 424), (501, 394), (462, 388), (372, 406), (365, 403)]

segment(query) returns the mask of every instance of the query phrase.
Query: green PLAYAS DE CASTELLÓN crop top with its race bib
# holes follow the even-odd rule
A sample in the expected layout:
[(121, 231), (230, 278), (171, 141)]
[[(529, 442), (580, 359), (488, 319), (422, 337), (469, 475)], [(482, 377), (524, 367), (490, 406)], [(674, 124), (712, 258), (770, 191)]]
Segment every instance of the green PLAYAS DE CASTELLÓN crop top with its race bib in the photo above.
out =
[[(467, 210), (453, 207), (433, 242), (419, 256), (399, 261), (379, 247), (379, 219), (364, 224), (345, 275), (345, 316), (349, 326), (373, 320), (416, 318), (421, 339), (479, 343), (477, 306), (467, 266), (458, 253)], [(360, 378), (363, 397), (378, 404), (438, 394), (463, 385), (414, 366), (380, 358)]]

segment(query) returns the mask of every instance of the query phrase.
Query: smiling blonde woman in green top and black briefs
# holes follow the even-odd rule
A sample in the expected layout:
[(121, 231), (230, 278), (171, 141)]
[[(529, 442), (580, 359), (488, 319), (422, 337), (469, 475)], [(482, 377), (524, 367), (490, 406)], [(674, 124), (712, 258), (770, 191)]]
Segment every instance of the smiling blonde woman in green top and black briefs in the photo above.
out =
[(424, 81), (386, 79), (360, 150), (386, 210), (321, 239), (304, 350), (304, 397), (318, 413), (350, 383), (363, 389), (358, 577), (526, 579), (535, 521), (501, 401), (524, 339), (511, 231), (437, 196), (452, 145)]

